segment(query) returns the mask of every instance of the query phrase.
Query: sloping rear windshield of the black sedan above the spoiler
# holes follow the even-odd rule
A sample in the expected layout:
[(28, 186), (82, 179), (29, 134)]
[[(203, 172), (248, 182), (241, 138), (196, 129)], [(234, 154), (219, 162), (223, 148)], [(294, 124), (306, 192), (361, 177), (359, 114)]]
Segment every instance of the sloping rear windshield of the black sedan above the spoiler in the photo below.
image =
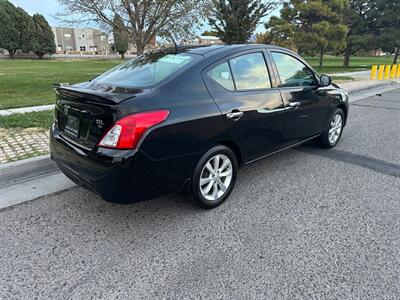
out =
[(187, 53), (148, 53), (119, 65), (95, 78), (95, 84), (146, 88), (193, 63), (196, 56)]

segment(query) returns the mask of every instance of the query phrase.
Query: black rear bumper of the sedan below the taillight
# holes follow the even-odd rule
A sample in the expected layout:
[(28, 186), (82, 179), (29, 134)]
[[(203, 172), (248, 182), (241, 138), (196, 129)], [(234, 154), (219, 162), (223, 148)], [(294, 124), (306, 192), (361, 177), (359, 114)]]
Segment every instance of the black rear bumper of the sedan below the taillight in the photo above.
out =
[(50, 153), (72, 181), (113, 203), (164, 195), (182, 187), (187, 176), (186, 172), (169, 175), (171, 160), (155, 161), (140, 150), (82, 149), (54, 127), (50, 132)]

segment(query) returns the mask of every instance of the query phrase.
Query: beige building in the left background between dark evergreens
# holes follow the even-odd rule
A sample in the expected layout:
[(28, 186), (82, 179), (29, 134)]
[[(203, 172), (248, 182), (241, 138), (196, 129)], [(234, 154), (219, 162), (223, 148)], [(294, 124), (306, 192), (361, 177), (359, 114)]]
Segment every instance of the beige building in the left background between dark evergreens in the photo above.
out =
[(93, 28), (52, 27), (57, 53), (110, 53), (108, 35)]

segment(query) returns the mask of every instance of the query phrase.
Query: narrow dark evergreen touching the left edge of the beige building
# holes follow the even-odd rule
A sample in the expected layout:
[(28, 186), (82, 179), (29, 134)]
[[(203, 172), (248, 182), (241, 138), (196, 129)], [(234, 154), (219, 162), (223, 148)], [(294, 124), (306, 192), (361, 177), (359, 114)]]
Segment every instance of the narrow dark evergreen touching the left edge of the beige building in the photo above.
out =
[(54, 33), (49, 23), (40, 14), (34, 14), (33, 22), (35, 24), (36, 40), (33, 46), (33, 52), (42, 58), (45, 54), (53, 54), (56, 52), (56, 44), (54, 42)]

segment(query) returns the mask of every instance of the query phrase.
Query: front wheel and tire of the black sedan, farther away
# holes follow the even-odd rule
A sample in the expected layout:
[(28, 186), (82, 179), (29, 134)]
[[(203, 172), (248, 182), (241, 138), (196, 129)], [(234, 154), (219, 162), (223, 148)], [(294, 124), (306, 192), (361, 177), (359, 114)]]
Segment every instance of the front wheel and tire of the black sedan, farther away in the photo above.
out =
[(343, 133), (344, 128), (344, 112), (341, 108), (337, 108), (333, 111), (328, 119), (325, 130), (322, 132), (319, 142), (323, 148), (335, 147)]

